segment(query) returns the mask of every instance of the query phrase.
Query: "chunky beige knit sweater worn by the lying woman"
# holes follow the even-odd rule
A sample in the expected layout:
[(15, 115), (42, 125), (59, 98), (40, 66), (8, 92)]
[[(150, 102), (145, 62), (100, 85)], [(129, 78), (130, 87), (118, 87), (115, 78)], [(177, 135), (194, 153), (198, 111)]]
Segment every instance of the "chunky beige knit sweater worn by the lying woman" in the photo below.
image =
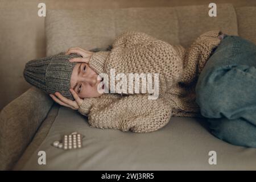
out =
[(123, 32), (114, 40), (111, 51), (93, 53), (89, 66), (109, 77), (111, 68), (115, 69), (115, 75), (124, 73), (127, 78), (128, 73), (159, 73), (158, 99), (148, 100), (149, 93), (142, 93), (141, 89), (136, 94), (127, 89), (125, 93), (84, 98), (79, 112), (88, 116), (92, 127), (137, 133), (158, 130), (172, 116), (201, 117), (195, 102), (195, 85), (213, 49), (220, 43), (220, 32), (200, 35), (187, 50), (143, 32)]

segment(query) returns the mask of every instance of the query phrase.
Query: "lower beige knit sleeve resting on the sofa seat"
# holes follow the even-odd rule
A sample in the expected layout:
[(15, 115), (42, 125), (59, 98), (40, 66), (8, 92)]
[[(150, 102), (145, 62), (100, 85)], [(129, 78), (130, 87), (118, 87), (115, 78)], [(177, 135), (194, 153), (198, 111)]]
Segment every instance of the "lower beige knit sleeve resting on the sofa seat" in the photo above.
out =
[(163, 98), (148, 100), (146, 95), (122, 96), (101, 109), (88, 114), (91, 127), (147, 133), (167, 125), (171, 107)]

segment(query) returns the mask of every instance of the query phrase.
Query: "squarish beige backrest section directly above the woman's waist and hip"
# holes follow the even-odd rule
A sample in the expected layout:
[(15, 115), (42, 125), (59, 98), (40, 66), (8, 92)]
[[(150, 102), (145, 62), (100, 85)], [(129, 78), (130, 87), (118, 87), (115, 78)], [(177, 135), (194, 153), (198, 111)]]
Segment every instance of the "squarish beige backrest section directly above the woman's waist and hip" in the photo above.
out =
[(176, 7), (179, 39), (184, 47), (206, 31), (219, 28), (226, 34), (238, 35), (236, 11), (231, 4), (217, 4), (217, 16), (208, 16), (208, 5)]

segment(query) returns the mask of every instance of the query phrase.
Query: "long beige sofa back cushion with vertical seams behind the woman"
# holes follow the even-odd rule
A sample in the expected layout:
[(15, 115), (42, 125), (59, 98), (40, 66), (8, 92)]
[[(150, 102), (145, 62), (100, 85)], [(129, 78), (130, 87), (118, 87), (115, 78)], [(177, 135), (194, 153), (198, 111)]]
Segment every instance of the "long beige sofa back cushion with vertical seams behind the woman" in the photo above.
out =
[(221, 29), (237, 35), (237, 17), (231, 4), (219, 4), (217, 17), (209, 7), (180, 6), (105, 10), (48, 10), (47, 56), (69, 47), (108, 47), (125, 30), (142, 31), (170, 44), (188, 47), (203, 32)]

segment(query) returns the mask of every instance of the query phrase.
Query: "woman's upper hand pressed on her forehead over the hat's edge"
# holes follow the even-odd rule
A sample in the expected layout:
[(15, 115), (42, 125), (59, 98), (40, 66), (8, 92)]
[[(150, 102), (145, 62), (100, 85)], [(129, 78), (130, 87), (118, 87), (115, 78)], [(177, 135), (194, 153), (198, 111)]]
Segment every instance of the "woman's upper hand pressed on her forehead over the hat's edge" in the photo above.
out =
[(81, 49), (79, 47), (69, 48), (65, 54), (69, 55), (71, 53), (77, 53), (82, 57), (75, 57), (73, 59), (70, 59), (69, 62), (80, 62), (80, 63), (87, 63), (87, 64), (89, 63), (90, 57), (93, 54), (93, 52), (85, 51), (84, 49)]

